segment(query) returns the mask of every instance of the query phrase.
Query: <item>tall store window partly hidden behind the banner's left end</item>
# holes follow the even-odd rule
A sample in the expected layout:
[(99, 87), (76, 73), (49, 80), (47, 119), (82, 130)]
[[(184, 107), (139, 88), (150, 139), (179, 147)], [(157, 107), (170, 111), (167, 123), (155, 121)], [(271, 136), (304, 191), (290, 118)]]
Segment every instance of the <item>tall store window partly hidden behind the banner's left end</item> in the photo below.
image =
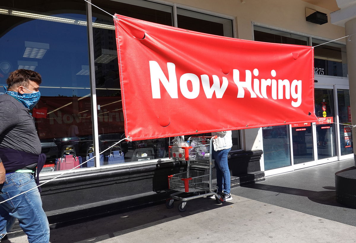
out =
[[(172, 25), (171, 6), (147, 1), (100, 0), (92, 2), (109, 13)], [(122, 112), (116, 37), (112, 17), (103, 14), (95, 7), (92, 8), (92, 13), (99, 150), (101, 152), (125, 138), (124, 114)], [(124, 141), (105, 151), (100, 157), (100, 165), (167, 158), (168, 144), (169, 138)]]

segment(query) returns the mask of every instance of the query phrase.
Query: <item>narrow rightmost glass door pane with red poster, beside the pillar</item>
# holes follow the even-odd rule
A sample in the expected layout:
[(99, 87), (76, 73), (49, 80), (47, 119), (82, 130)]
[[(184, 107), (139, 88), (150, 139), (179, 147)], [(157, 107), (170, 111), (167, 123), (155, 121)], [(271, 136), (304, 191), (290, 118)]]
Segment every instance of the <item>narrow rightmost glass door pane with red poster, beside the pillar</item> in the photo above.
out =
[(349, 90), (337, 90), (337, 104), (339, 109), (341, 155), (352, 154), (354, 153), (354, 145), (352, 144), (351, 106)]

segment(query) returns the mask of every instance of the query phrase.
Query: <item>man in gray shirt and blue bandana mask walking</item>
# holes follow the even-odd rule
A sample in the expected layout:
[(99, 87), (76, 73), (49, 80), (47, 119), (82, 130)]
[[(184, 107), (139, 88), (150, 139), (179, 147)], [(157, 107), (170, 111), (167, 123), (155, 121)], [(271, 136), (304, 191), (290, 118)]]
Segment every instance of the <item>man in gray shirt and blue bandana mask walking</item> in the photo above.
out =
[[(41, 154), (30, 111), (40, 99), (41, 82), (37, 72), (19, 69), (10, 73), (7, 91), (0, 95), (0, 202), (39, 183), (38, 173), (46, 155)], [(14, 218), (19, 220), (28, 242), (49, 242), (48, 220), (37, 188), (0, 204), (0, 239), (11, 230)]]

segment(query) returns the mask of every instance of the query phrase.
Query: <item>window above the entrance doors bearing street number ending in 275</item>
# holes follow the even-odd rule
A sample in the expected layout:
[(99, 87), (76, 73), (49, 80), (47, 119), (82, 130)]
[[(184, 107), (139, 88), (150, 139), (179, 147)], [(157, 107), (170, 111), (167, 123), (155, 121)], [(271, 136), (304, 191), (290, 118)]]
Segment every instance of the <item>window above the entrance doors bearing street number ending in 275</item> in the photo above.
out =
[[(323, 44), (325, 40), (312, 39), (313, 46)], [(347, 77), (346, 45), (328, 43), (314, 48), (314, 73)]]

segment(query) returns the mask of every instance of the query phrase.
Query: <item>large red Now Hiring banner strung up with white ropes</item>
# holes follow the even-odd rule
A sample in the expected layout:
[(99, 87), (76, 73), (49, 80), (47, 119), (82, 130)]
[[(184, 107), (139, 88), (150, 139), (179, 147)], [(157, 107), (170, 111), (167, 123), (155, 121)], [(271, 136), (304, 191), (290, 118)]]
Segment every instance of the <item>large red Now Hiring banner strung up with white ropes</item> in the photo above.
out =
[(313, 49), (116, 15), (125, 133), (133, 140), (315, 122)]

